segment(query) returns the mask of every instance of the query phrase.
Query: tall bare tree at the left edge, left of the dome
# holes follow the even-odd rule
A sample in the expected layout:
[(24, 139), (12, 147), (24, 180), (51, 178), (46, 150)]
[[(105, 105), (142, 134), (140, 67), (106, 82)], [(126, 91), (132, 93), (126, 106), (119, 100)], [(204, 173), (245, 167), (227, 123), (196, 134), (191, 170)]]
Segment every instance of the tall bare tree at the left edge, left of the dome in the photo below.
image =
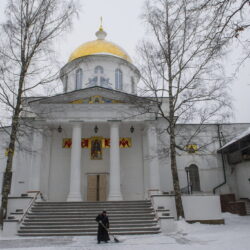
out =
[(21, 125), (22, 99), (55, 79), (49, 63), (54, 40), (72, 24), (75, 0), (9, 0), (7, 21), (1, 25), (0, 101), (11, 113), (1, 205), (1, 224), (7, 211), (12, 162)]

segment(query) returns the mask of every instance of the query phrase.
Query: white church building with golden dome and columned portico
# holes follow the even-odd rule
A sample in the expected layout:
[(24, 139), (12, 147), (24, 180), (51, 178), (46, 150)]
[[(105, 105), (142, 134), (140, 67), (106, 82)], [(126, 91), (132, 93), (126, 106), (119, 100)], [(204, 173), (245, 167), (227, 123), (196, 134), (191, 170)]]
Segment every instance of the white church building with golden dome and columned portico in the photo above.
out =
[[(166, 120), (158, 117), (154, 99), (137, 96), (139, 70), (106, 35), (101, 27), (96, 40), (71, 54), (60, 72), (63, 93), (23, 100), (22, 118), (29, 126), (14, 153), (10, 197), (30, 191), (40, 191), (46, 201), (54, 202), (153, 197), (157, 206), (167, 204), (175, 216)], [(167, 112), (167, 101), (162, 105)], [(179, 124), (183, 136), (177, 140), (198, 126)], [(188, 152), (178, 152), (184, 210), (190, 220), (221, 219), (219, 196), (214, 193), (250, 199), (249, 159), (229, 163), (223, 150), (218, 152), (249, 126), (206, 125), (186, 145)], [(5, 130), (0, 138), (2, 175), (8, 145)], [(195, 218), (199, 213), (201, 217)]]

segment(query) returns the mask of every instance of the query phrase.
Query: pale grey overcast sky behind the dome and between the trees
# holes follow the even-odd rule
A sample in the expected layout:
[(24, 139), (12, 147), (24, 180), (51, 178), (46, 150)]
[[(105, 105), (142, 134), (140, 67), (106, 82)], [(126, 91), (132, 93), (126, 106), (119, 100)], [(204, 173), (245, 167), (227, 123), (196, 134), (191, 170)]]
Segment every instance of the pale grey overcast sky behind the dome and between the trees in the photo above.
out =
[[(4, 21), (4, 8), (7, 0), (0, 0), (0, 21)], [(62, 66), (71, 52), (82, 43), (94, 40), (95, 32), (103, 17), (103, 27), (108, 33), (107, 40), (125, 49), (136, 65), (136, 45), (143, 38), (145, 27), (140, 20), (144, 0), (79, 0), (81, 11), (75, 20), (73, 30), (58, 42)], [(248, 34), (250, 35), (250, 32)], [(239, 51), (231, 49), (225, 59), (228, 74), (237, 63)], [(238, 78), (234, 80), (231, 92), (234, 99), (234, 122), (250, 122), (250, 60), (241, 67)]]

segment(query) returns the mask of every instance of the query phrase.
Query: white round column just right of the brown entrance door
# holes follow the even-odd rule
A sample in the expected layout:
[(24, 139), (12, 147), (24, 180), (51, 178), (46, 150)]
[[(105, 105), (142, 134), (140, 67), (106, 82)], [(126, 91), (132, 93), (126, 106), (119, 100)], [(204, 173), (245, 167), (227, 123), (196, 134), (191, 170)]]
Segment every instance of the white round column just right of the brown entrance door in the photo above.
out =
[(120, 146), (119, 146), (120, 121), (110, 122), (110, 176), (109, 176), (109, 201), (121, 201), (120, 177)]

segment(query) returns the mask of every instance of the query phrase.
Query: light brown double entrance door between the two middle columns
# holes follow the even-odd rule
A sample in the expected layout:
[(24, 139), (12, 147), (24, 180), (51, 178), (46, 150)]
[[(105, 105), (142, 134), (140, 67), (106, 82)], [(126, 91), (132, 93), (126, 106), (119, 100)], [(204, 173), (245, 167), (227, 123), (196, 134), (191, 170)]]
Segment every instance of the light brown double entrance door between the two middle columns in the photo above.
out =
[(107, 198), (107, 175), (88, 175), (88, 201), (106, 201)]

